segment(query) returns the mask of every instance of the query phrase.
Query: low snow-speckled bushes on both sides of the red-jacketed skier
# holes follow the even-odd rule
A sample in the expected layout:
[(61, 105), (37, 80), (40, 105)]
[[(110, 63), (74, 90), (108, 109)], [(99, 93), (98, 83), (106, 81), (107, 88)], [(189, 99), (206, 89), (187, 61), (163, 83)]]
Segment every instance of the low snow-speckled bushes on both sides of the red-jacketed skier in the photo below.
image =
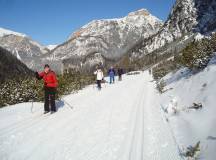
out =
[[(67, 73), (58, 76), (57, 98), (82, 89), (93, 83), (94, 77), (80, 73)], [(35, 77), (16, 77), (0, 85), (0, 107), (21, 102), (43, 101), (43, 82)]]

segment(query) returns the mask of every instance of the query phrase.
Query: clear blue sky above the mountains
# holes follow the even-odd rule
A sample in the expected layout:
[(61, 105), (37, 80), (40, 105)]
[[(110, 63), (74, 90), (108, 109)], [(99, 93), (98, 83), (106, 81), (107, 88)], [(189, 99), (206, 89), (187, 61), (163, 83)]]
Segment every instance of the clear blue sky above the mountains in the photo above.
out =
[(175, 0), (0, 0), (0, 27), (44, 44), (60, 44), (94, 19), (124, 17), (141, 8), (166, 20)]

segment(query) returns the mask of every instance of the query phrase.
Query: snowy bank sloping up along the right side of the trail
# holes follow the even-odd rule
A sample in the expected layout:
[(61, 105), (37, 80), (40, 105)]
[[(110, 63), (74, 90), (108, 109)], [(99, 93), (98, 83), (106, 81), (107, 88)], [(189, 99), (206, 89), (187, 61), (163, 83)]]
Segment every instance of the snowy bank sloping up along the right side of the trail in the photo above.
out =
[[(205, 70), (197, 74), (181, 69), (170, 73), (164, 80), (167, 92), (160, 97), (160, 104), (179, 147), (184, 152), (200, 141), (201, 152), (197, 156), (203, 160), (215, 160), (216, 56)], [(194, 103), (200, 103), (202, 108), (191, 109)]]

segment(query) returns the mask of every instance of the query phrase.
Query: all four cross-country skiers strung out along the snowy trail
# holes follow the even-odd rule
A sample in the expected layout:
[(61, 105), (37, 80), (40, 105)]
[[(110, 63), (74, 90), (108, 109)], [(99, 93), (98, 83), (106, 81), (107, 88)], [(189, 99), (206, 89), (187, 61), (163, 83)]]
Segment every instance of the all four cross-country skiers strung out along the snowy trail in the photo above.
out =
[[(102, 68), (96, 67), (96, 71), (94, 72), (96, 75), (96, 82), (97, 87), (99, 90), (101, 90), (101, 83), (105, 82), (104, 80), (104, 74), (102, 71)], [(119, 81), (122, 80), (123, 75), (123, 69), (118, 68), (117, 69), (117, 75), (119, 77)], [(35, 76), (38, 80), (43, 79), (44, 81), (44, 114), (47, 113), (55, 113), (56, 112), (56, 104), (55, 104), (55, 97), (56, 97), (56, 89), (58, 87), (58, 80), (56, 77), (56, 74), (54, 71), (50, 69), (50, 66), (46, 64), (44, 66), (44, 71), (41, 73), (35, 72)], [(116, 70), (114, 67), (110, 67), (108, 70), (108, 76), (109, 76), (109, 83), (115, 83), (115, 76), (116, 76)], [(49, 107), (51, 105), (51, 108)]]

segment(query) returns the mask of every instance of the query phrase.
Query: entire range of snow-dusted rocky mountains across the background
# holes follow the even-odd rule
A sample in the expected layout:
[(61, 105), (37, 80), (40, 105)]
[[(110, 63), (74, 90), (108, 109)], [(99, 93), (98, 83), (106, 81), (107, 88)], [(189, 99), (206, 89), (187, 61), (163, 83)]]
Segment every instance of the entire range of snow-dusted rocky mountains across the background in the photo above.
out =
[(94, 20), (58, 46), (45, 47), (24, 34), (0, 28), (0, 46), (34, 70), (49, 63), (59, 73), (67, 68), (91, 71), (98, 64), (116, 64), (125, 55), (145, 60), (149, 53), (179, 53), (202, 34), (215, 31), (215, 8), (214, 0), (177, 0), (164, 24), (146, 9), (119, 19)]

